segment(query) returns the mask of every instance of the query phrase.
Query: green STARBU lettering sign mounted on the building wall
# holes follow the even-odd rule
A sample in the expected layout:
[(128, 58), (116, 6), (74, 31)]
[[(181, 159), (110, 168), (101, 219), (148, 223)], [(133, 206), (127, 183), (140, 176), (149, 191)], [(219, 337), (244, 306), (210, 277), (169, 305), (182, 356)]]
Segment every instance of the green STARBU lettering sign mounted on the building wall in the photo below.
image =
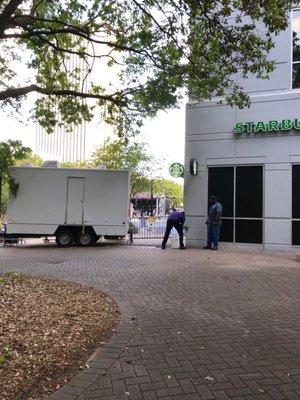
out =
[(282, 119), (258, 122), (237, 122), (234, 126), (234, 132), (237, 135), (243, 133), (268, 133), (278, 131), (300, 130), (300, 119)]

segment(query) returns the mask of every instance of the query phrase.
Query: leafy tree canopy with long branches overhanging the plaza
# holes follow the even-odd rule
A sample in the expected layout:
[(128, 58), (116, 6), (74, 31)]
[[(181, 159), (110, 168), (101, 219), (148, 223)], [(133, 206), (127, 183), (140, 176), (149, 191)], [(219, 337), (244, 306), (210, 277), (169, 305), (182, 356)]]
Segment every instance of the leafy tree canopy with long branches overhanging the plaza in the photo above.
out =
[[(267, 54), (292, 3), (0, 0), (1, 107), (18, 108), (29, 93), (39, 93), (34, 115), (49, 132), (56, 123), (90, 120), (95, 105), (124, 132), (186, 93), (195, 100), (215, 94), (243, 107), (249, 98), (235, 74), (272, 71)], [(74, 54), (86, 65), (85, 76), (72, 67)], [(95, 60), (118, 66), (116, 85), (90, 81), (95, 68), (103, 74)]]

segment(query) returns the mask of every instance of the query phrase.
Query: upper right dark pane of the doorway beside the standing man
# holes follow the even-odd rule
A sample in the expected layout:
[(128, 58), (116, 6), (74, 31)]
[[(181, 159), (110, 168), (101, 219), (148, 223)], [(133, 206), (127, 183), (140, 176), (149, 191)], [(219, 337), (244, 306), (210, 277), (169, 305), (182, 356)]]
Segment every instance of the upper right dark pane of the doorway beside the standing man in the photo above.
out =
[(262, 218), (263, 168), (236, 168), (236, 217)]

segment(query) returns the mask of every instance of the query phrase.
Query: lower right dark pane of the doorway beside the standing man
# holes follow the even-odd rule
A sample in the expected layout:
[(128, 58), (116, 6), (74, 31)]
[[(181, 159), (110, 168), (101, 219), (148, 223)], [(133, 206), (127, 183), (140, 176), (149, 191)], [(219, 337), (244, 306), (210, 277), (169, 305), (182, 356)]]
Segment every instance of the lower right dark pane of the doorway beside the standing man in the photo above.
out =
[(236, 220), (236, 243), (262, 243), (262, 221)]

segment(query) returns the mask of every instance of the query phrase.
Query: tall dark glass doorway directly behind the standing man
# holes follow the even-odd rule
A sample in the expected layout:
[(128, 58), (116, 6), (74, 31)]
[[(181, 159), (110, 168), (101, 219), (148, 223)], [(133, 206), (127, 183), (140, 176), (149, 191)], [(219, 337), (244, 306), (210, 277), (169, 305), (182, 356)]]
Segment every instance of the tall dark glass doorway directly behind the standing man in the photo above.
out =
[(221, 242), (263, 243), (263, 167), (210, 167), (208, 197), (223, 206)]

